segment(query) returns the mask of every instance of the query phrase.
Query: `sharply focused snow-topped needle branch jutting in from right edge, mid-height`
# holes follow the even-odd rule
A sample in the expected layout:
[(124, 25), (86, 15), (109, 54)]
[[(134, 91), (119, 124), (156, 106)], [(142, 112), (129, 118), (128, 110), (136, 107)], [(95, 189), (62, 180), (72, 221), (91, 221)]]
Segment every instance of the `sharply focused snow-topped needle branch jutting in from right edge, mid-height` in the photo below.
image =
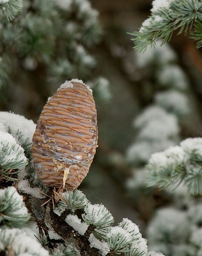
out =
[(188, 138), (153, 154), (146, 168), (148, 186), (164, 189), (184, 181), (191, 194), (202, 195), (202, 138)]

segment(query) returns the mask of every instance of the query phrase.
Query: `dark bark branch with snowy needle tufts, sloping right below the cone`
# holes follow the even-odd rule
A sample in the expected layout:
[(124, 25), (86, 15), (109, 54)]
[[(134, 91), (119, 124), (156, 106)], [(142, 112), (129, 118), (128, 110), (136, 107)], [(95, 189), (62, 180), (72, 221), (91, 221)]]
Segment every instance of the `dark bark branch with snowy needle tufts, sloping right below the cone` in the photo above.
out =
[[(82, 198), (83, 193), (78, 193), (77, 190), (75, 195), (80, 195)], [(63, 196), (67, 201), (68, 198), (74, 197), (72, 192), (65, 192)], [(64, 202), (63, 196), (60, 201)], [(69, 214), (71, 209), (66, 206), (65, 211), (58, 216), (54, 213), (52, 203), (45, 204), (41, 209), (40, 205), (47, 200), (46, 198), (35, 198), (32, 201), (30, 195), (25, 195), (25, 198), (26, 206), (38, 225), (48, 228), (63, 239), (63, 244), (59, 243), (55, 245), (54, 250), (51, 250), (53, 256), (84, 255), (81, 252), (94, 256), (114, 255), (121, 252), (125, 256), (148, 256), (152, 253), (148, 252), (147, 241), (142, 238), (136, 224), (124, 218), (119, 226), (112, 227), (114, 218), (102, 204), (92, 205), (86, 201), (84, 209), (82, 205), (81, 208), (77, 206), (77, 210), (83, 211), (84, 222), (82, 222), (75, 209), (74, 214)], [(97, 231), (102, 233), (102, 238)], [(47, 237), (44, 241), (48, 244), (50, 239), (48, 240)]]

